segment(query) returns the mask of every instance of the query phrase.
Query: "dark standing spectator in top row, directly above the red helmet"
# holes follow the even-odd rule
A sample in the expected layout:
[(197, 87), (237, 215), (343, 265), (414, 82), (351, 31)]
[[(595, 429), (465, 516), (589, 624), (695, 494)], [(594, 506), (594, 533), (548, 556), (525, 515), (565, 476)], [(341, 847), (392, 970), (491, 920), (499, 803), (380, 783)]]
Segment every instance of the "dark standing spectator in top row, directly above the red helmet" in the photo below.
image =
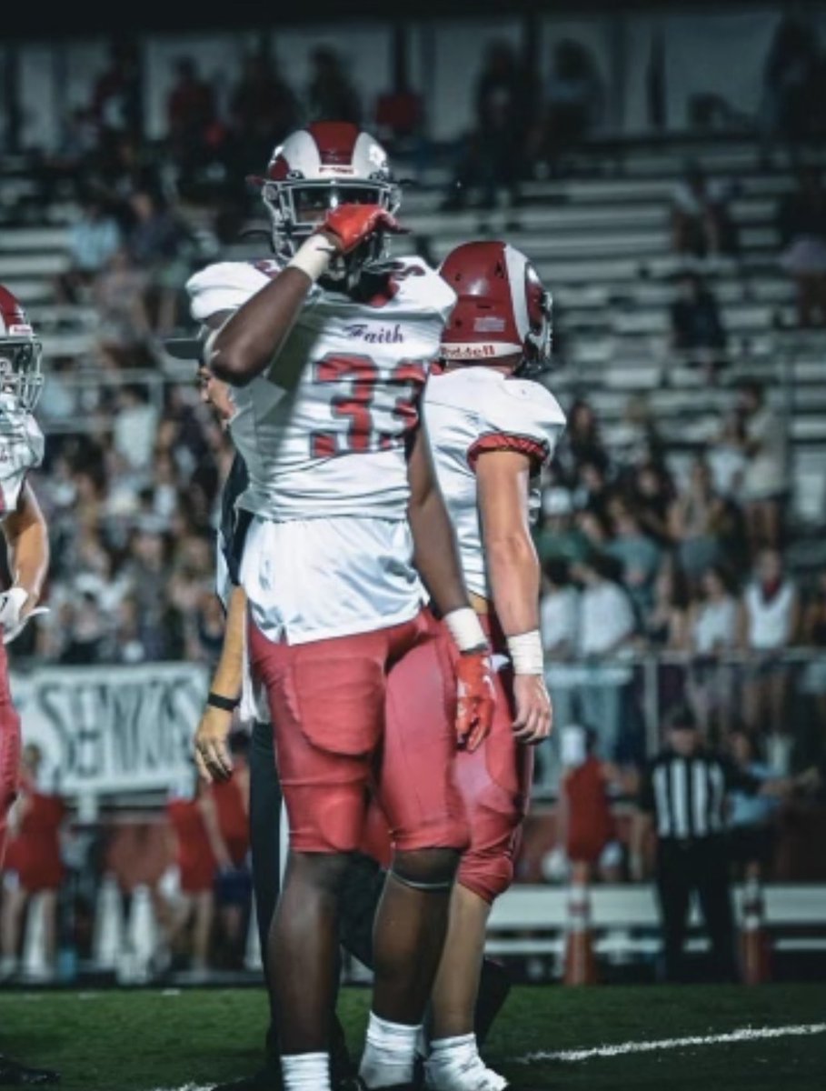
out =
[(467, 136), (446, 211), (463, 208), (469, 187), (482, 187), (479, 207), (496, 207), (498, 191), (519, 200), (531, 120), (530, 79), (509, 41), (493, 41), (474, 89), (474, 130)]

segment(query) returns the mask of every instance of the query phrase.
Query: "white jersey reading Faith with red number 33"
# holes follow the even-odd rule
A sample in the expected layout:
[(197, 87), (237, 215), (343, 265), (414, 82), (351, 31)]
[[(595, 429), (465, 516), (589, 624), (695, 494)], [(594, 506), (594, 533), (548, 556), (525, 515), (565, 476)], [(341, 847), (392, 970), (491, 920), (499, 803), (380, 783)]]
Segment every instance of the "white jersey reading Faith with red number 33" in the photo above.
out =
[[(187, 284), (193, 316), (235, 310), (278, 272), (209, 266)], [(388, 285), (367, 302), (316, 285), (274, 365), (232, 389), (250, 473), (239, 506), (256, 516), (241, 580), (274, 640), (394, 625), (424, 601), (405, 444), (455, 296), (417, 259), (394, 263)]]

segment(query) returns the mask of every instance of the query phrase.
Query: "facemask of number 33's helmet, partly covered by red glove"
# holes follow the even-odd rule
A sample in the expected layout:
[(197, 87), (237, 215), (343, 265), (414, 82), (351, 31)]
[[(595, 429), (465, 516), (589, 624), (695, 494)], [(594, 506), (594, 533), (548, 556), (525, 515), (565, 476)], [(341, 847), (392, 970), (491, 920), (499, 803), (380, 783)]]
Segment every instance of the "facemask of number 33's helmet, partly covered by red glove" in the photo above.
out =
[[(272, 225), (272, 249), (284, 262), (318, 229), (328, 212), (343, 204), (375, 204), (390, 214), (401, 203), (399, 187), (386, 178), (306, 180), (266, 179), (262, 197)], [(388, 237), (377, 231), (351, 253), (336, 256), (325, 279), (348, 287), (362, 272), (378, 272), (390, 254)]]

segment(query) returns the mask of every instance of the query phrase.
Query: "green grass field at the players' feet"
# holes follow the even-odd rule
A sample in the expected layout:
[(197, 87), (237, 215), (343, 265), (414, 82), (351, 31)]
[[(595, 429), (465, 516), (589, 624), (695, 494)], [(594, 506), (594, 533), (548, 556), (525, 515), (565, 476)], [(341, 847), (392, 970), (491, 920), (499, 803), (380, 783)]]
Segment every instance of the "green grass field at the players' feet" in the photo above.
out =
[[(369, 994), (347, 990), (353, 1050)], [(258, 1063), (266, 1006), (255, 990), (4, 993), (0, 1042), (53, 1065), (65, 1091), (189, 1091)], [(741, 1028), (826, 1023), (826, 986), (522, 987), (488, 1043), (514, 1087), (599, 1091), (814, 1091), (826, 1086), (826, 1033), (697, 1044), (575, 1063), (520, 1057), (625, 1042), (707, 1036)]]

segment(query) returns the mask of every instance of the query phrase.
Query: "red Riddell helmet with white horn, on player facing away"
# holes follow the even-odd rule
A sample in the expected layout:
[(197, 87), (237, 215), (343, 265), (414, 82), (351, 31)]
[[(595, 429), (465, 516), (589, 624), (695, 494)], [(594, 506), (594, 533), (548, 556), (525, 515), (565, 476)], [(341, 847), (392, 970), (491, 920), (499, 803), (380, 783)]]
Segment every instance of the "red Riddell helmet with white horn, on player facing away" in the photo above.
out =
[(439, 273), (459, 296), (441, 334), (441, 356), (496, 363), (520, 353), (520, 374), (550, 364), (551, 299), (527, 257), (507, 242), (465, 242)]

